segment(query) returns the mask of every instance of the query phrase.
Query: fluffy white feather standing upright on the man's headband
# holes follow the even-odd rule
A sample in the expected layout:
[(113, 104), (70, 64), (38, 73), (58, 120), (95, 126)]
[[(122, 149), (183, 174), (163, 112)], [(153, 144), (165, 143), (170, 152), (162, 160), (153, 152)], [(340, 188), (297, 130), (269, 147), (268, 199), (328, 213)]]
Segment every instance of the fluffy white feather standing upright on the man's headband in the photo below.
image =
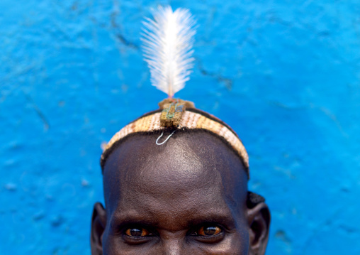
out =
[(171, 98), (190, 79), (196, 21), (189, 10), (170, 6), (159, 6), (152, 15), (154, 20), (143, 22), (142, 50), (152, 85)]

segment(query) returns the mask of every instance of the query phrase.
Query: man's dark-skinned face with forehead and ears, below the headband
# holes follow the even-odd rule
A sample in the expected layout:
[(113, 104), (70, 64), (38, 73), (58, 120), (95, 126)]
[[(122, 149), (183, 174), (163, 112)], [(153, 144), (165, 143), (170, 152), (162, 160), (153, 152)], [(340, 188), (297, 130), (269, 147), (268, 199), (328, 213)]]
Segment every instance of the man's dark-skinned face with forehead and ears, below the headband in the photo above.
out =
[(239, 156), (206, 132), (176, 131), (162, 146), (158, 136), (132, 136), (108, 156), (91, 254), (265, 254), (269, 209), (247, 208)]

